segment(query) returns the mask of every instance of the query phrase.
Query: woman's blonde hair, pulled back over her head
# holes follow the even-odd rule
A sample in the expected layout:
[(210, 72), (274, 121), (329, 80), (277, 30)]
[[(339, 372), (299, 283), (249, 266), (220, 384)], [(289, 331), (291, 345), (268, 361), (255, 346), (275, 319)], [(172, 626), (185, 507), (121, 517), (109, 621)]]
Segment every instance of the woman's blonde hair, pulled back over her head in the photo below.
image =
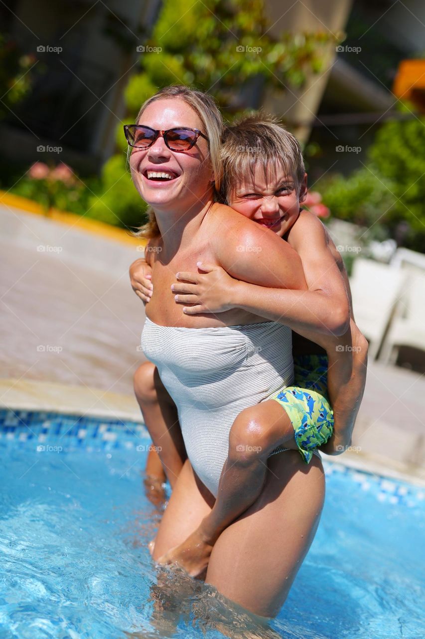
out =
[[(179, 98), (186, 102), (186, 104), (195, 111), (202, 122), (204, 128), (202, 133), (207, 135), (208, 138), (208, 159), (213, 167), (215, 188), (216, 190), (219, 190), (221, 187), (221, 181), (223, 180), (223, 167), (221, 166), (220, 157), (223, 119), (221, 118), (220, 111), (218, 111), (218, 107), (214, 102), (214, 98), (207, 93), (197, 91), (197, 89), (190, 89), (189, 87), (181, 84), (177, 84), (176, 86), (166, 86), (142, 104), (140, 111), (138, 112), (136, 122), (138, 123), (140, 121), (143, 112), (150, 104), (153, 104), (153, 102), (157, 102), (158, 100), (165, 100), (168, 98)], [(151, 206), (147, 209), (147, 217), (147, 223), (140, 226), (137, 233), (134, 233), (133, 235), (147, 239), (161, 235), (158, 223), (156, 222), (155, 213)]]

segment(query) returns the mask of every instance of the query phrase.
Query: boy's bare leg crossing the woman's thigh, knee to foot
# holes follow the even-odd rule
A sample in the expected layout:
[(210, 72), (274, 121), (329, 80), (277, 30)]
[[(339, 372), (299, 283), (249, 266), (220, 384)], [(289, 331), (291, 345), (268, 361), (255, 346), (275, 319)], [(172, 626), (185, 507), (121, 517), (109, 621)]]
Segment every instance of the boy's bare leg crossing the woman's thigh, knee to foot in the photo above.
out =
[(213, 509), (183, 544), (160, 558), (161, 563), (177, 562), (191, 576), (201, 574), (221, 532), (260, 495), (267, 458), (280, 446), (297, 450), (294, 427), (280, 403), (269, 399), (242, 410), (230, 429), (228, 458)]

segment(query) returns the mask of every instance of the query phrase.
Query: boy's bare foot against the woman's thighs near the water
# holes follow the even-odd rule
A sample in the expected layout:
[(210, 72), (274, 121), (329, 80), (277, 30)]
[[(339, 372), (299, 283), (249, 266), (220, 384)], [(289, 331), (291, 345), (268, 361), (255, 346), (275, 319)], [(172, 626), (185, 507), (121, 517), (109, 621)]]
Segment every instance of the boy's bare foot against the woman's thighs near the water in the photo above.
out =
[(195, 530), (183, 544), (175, 546), (158, 559), (158, 564), (174, 564), (183, 568), (191, 577), (198, 577), (208, 566), (213, 546), (208, 544), (203, 535)]

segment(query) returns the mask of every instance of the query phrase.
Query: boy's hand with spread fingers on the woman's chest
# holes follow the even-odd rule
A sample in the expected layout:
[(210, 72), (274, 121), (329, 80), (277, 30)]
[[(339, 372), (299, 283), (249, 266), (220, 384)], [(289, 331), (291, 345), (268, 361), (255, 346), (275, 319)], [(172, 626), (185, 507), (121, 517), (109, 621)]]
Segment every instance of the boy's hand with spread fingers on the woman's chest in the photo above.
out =
[(221, 313), (234, 309), (236, 305), (232, 301), (232, 293), (238, 281), (230, 277), (221, 266), (202, 262), (197, 262), (197, 266), (203, 273), (181, 271), (175, 275), (177, 280), (190, 282), (189, 284), (176, 282), (171, 286), (173, 293), (177, 293), (174, 296), (177, 304), (193, 304), (193, 306), (184, 307), (183, 312), (186, 315), (195, 315)]

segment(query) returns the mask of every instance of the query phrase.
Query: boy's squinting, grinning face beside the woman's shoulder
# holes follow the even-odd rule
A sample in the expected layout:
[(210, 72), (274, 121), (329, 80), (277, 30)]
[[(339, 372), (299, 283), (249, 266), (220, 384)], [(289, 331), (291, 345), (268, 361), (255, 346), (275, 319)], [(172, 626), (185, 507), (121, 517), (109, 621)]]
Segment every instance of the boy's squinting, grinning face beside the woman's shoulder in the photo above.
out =
[(256, 166), (254, 179), (247, 176), (237, 185), (228, 205), (282, 237), (294, 224), (299, 204), (306, 197), (307, 174), (304, 174), (298, 190), (294, 178), (287, 176), (280, 165), (276, 166), (276, 176), (271, 173), (268, 178), (265, 179), (262, 166)]

